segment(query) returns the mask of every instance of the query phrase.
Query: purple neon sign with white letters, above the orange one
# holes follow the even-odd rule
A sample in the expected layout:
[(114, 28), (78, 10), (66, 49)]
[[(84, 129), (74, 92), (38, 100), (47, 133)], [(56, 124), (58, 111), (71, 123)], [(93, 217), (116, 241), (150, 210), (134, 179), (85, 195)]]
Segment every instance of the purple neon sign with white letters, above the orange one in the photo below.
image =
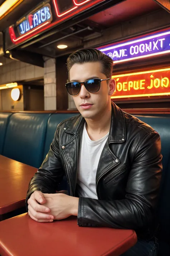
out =
[(111, 57), (114, 63), (170, 53), (170, 30), (98, 49)]

